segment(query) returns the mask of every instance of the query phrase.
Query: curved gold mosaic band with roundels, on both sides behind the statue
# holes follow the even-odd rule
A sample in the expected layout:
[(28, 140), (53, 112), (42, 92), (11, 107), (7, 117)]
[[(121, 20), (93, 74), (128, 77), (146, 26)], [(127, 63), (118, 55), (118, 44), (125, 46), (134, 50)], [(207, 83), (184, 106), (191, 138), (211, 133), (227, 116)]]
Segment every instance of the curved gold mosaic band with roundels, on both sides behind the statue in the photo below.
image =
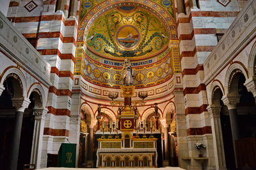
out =
[[(136, 88), (154, 86), (168, 81), (172, 77), (173, 69), (170, 68), (172, 58), (170, 57), (170, 50), (167, 51), (168, 53), (164, 58), (156, 57), (159, 61), (151, 63), (150, 65), (145, 64), (138, 66), (138, 63), (143, 61), (131, 62), (134, 70), (134, 85)], [(123, 83), (122, 65), (104, 65), (104, 63), (99, 63), (99, 60), (95, 61), (88, 56), (85, 56), (81, 65), (81, 70), (83, 70), (81, 75), (88, 82), (99, 86), (115, 88), (119, 88)]]

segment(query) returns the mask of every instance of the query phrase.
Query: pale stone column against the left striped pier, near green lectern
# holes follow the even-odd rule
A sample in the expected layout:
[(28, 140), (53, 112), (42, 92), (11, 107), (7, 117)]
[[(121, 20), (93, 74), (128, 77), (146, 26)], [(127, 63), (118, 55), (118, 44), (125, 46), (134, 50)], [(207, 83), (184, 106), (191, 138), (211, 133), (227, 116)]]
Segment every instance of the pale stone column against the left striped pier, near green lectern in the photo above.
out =
[(35, 164), (36, 169), (40, 169), (43, 135), (44, 135), (44, 123), (48, 109), (35, 109), (35, 125), (33, 133), (33, 143), (31, 150), (30, 164)]

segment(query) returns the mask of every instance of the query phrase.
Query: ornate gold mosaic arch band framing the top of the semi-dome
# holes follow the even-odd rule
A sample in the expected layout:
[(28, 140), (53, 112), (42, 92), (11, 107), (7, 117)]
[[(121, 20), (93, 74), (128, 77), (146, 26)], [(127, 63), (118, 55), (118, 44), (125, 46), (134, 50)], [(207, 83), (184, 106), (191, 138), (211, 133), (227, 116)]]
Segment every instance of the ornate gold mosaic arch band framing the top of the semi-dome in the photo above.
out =
[(118, 8), (122, 12), (131, 12), (137, 7), (145, 8), (163, 20), (163, 24), (168, 28), (168, 33), (172, 39), (177, 39), (177, 29), (175, 25), (175, 12), (173, 0), (81, 0), (79, 13), (79, 29), (77, 41), (83, 41), (88, 32), (88, 27), (94, 23), (95, 19), (103, 13), (113, 8)]

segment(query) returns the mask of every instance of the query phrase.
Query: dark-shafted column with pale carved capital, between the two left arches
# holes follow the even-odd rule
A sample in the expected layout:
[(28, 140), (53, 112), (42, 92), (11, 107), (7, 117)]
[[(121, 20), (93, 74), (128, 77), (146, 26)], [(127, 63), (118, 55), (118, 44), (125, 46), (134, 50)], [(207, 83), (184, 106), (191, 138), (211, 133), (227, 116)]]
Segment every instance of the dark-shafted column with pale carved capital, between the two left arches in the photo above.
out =
[(22, 119), (24, 110), (28, 108), (30, 103), (28, 98), (12, 98), (13, 106), (15, 107), (15, 120), (12, 127), (12, 141), (10, 144), (10, 158), (8, 162), (8, 169), (17, 169), (19, 146), (20, 146), (20, 133), (22, 127)]

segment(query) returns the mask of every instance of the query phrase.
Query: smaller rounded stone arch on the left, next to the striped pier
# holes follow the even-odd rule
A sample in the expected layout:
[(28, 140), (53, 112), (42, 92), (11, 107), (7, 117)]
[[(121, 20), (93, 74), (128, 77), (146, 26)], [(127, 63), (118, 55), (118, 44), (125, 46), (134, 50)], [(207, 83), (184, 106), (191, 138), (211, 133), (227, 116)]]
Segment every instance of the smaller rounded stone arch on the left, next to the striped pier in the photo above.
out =
[[(28, 95), (27, 97), (29, 98), (29, 96), (31, 95), (31, 93), (38, 93), (39, 97), (40, 98), (36, 98), (37, 99), (37, 102), (41, 102), (42, 103), (42, 107), (46, 107), (47, 105), (47, 98), (45, 97), (45, 91), (44, 91), (44, 88), (42, 88), (42, 86), (38, 83), (33, 83), (30, 87), (29, 87), (29, 90), (28, 90)], [(38, 101), (38, 100), (41, 100), (41, 101)]]

